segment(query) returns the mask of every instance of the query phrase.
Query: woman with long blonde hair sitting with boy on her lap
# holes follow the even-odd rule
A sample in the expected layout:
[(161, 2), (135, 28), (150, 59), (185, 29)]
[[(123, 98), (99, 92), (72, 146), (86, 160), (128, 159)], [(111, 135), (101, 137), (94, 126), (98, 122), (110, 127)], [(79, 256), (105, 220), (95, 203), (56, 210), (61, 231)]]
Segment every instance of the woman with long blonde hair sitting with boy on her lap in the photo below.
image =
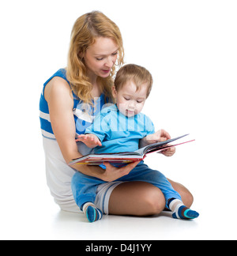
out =
[[(97, 205), (103, 203), (106, 214), (147, 216), (164, 209), (164, 195), (155, 186), (113, 182), (138, 163), (123, 168), (106, 164), (105, 171), (100, 167), (75, 165), (70, 168), (68, 165), (86, 153), (75, 137), (84, 133), (104, 104), (112, 102), (115, 65), (122, 66), (122, 63), (122, 36), (117, 25), (103, 13), (86, 13), (73, 26), (67, 68), (58, 70), (43, 86), (40, 122), (47, 185), (62, 210), (81, 211), (73, 200), (70, 186), (75, 170), (107, 181), (98, 188), (96, 196)], [(152, 140), (151, 137), (141, 140), (141, 145), (169, 137), (166, 131), (160, 130)], [(167, 150), (164, 154), (172, 156), (174, 152)], [(190, 192), (181, 184), (170, 182), (190, 207), (193, 202)]]

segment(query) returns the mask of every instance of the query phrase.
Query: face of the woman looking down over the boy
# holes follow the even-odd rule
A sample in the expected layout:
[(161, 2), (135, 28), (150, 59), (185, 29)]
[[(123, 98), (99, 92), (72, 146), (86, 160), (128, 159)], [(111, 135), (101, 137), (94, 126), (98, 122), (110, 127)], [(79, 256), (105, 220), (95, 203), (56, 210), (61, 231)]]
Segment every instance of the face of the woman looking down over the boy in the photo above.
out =
[(114, 40), (106, 37), (96, 38), (81, 57), (85, 60), (88, 77), (108, 77), (118, 57), (119, 47)]

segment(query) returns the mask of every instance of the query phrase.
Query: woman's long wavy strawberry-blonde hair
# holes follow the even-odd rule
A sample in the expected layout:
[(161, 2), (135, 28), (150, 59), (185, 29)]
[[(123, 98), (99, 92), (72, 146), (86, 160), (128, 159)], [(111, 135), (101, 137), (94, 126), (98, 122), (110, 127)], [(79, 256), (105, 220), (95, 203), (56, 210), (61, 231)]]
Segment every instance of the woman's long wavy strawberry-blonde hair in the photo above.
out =
[[(86, 66), (84, 60), (79, 57), (79, 53), (85, 54), (88, 47), (95, 43), (96, 38), (100, 36), (111, 38), (118, 44), (116, 65), (122, 66), (124, 55), (122, 36), (119, 27), (113, 21), (99, 11), (93, 11), (79, 17), (73, 25), (66, 77), (70, 81), (73, 92), (85, 104), (92, 104), (92, 84), (88, 80)], [(97, 78), (101, 92), (109, 99), (112, 99), (111, 86), (114, 76), (115, 66), (113, 66), (109, 77)]]

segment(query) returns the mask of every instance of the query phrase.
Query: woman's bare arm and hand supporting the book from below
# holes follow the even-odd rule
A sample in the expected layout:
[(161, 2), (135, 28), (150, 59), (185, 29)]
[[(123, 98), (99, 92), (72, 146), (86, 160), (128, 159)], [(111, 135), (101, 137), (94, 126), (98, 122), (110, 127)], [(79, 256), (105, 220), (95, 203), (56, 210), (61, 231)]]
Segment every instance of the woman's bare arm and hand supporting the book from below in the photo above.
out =
[[(70, 86), (61, 77), (54, 77), (46, 86), (45, 99), (49, 107), (51, 126), (54, 131), (62, 156), (69, 164), (71, 160), (81, 157), (75, 141), (76, 127), (73, 118), (73, 95)], [(77, 171), (104, 181), (113, 181), (127, 175), (138, 163), (129, 164), (124, 168), (114, 168), (107, 164), (104, 171), (100, 167), (73, 165)]]

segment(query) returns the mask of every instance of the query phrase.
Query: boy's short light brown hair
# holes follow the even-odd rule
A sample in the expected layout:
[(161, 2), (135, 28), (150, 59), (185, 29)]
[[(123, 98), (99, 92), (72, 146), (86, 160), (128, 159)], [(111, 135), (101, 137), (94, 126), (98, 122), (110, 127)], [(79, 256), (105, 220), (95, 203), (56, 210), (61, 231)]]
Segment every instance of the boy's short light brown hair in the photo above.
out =
[(127, 64), (122, 66), (115, 77), (115, 89), (118, 92), (127, 81), (133, 81), (137, 86), (137, 91), (140, 90), (141, 85), (146, 84), (148, 87), (146, 98), (148, 98), (152, 89), (152, 75), (143, 66), (135, 64)]

